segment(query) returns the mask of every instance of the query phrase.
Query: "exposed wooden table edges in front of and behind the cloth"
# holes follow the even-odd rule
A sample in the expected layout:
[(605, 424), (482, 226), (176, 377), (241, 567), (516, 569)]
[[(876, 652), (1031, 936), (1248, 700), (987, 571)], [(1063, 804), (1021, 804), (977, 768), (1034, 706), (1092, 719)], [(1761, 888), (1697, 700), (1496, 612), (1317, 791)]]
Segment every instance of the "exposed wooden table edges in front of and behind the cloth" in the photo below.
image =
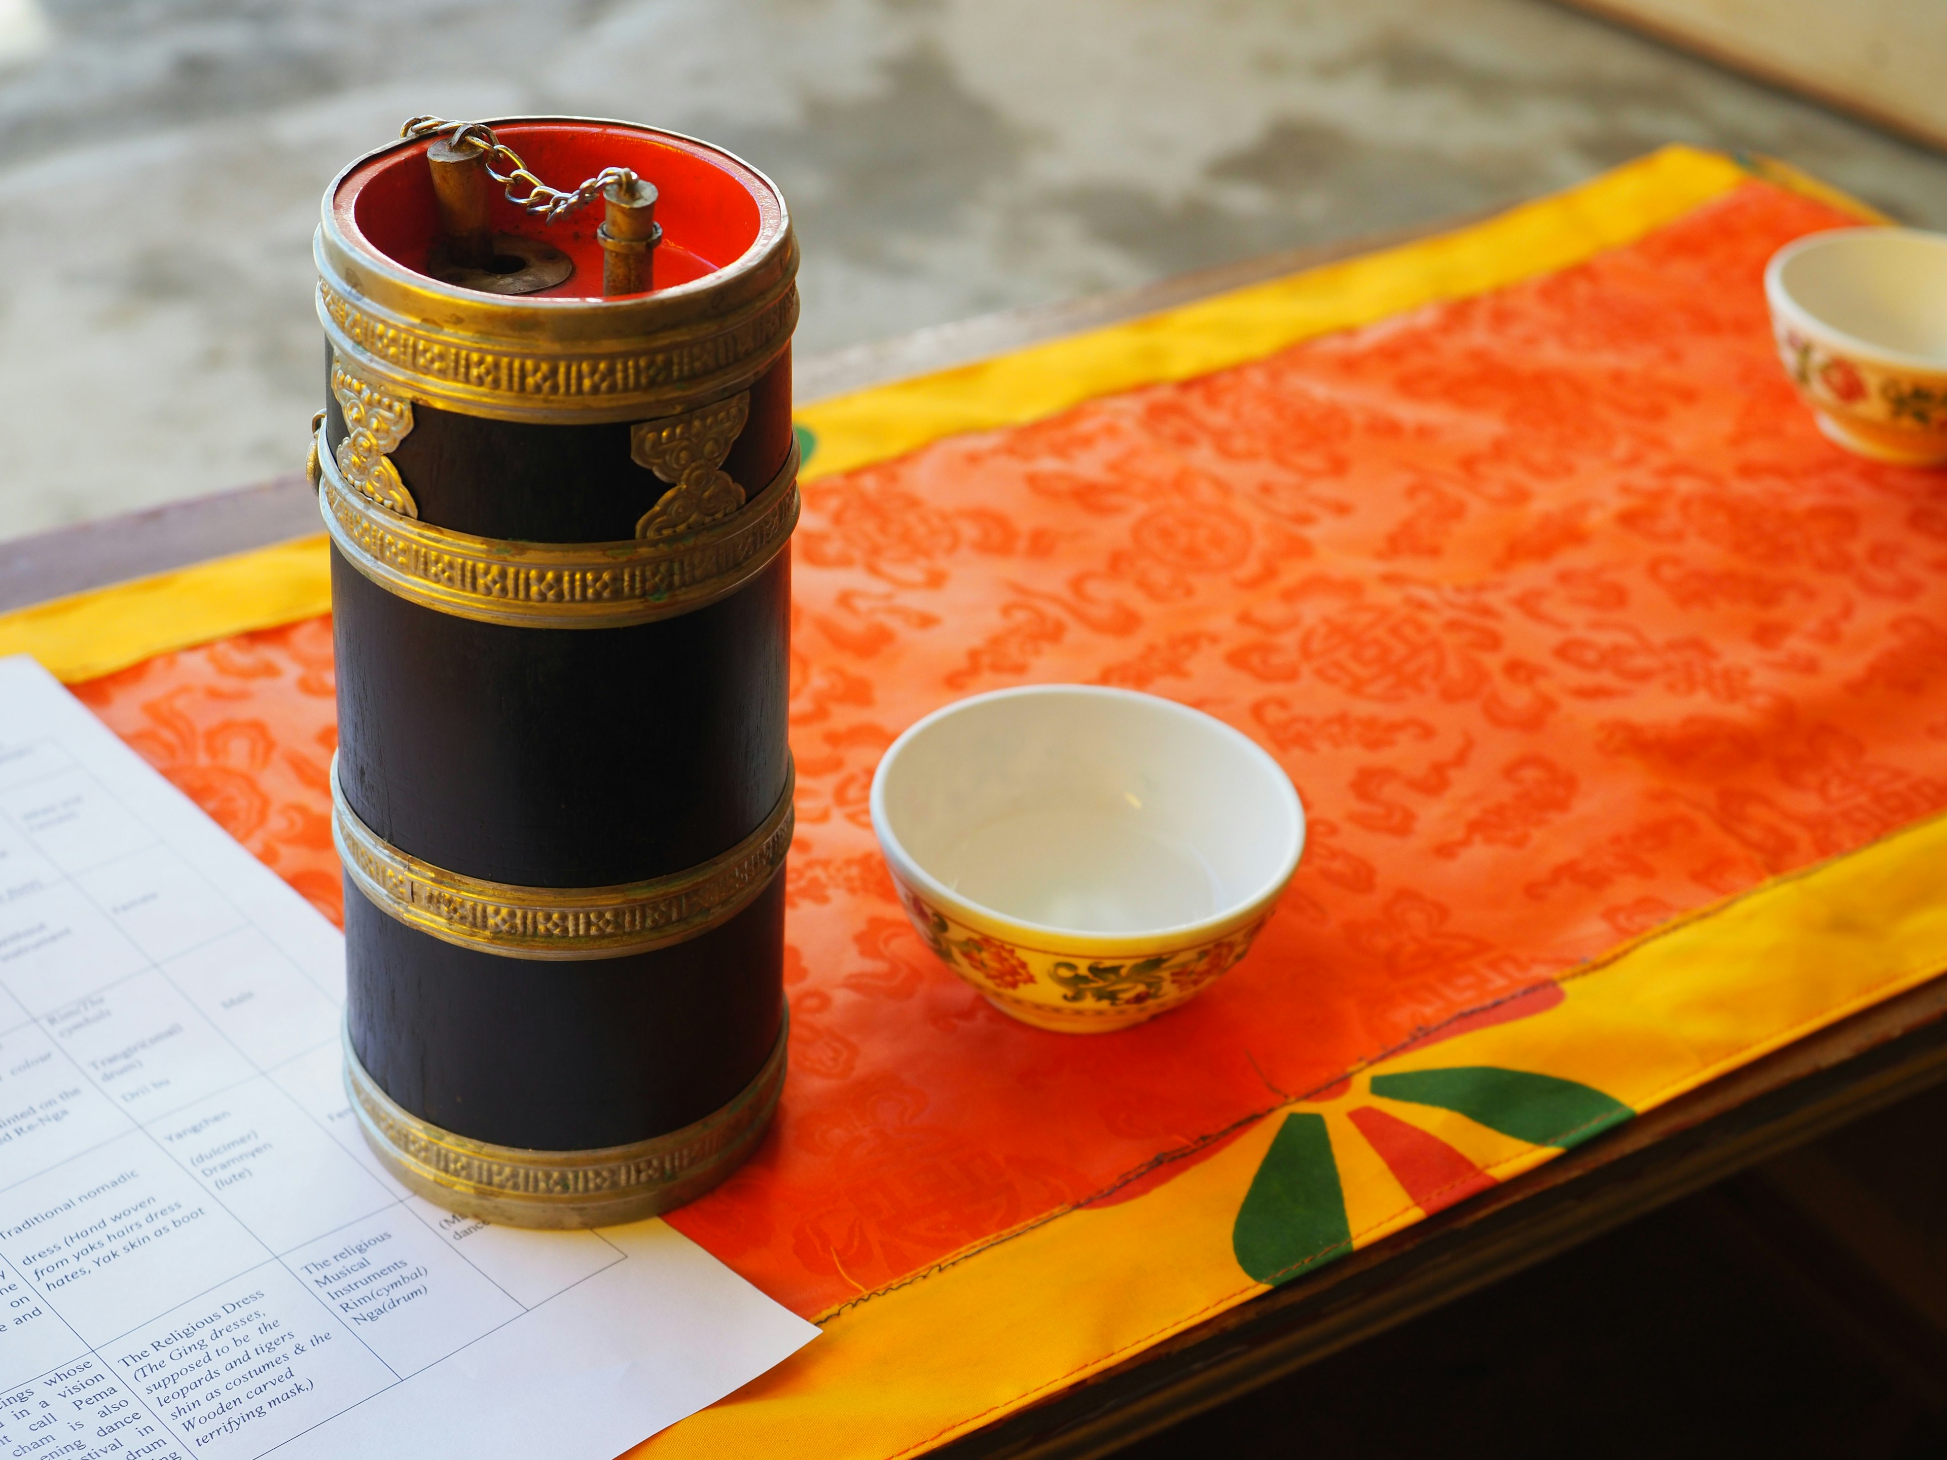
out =
[[(1437, 230), (1452, 228), (1445, 220)], [(1435, 228), (1304, 249), (1139, 290), (802, 360), (798, 399), (861, 389), (1129, 319)], [(292, 422), (292, 457), (304, 422)], [(0, 611), (319, 531), (298, 475), (0, 543)], [(1361, 1339), (1768, 1162), (1947, 1077), (1947, 977), (1822, 1030), (1526, 1176), (1178, 1333), (940, 1454), (1102, 1456)], [(1844, 1226), (1844, 1219), (1840, 1219)], [(1830, 1232), (1830, 1223), (1828, 1228)], [(1840, 1232), (1840, 1242), (1844, 1234)], [(1869, 1242), (1861, 1234), (1859, 1242)], [(1947, 1404), (1947, 1343), (1918, 1333), (1914, 1382)], [(1943, 1363), (1935, 1365), (1933, 1359)], [(1939, 1380), (1929, 1374), (1939, 1372)]]

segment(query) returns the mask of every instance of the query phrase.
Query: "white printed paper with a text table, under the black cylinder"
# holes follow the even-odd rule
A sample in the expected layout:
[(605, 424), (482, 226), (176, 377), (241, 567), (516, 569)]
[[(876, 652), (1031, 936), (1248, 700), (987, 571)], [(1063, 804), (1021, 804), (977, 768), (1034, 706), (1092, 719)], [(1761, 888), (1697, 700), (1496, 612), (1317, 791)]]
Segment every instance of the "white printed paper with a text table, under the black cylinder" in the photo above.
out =
[(650, 1221), (380, 1168), (339, 932), (0, 660), (0, 1456), (606, 1460), (816, 1335)]

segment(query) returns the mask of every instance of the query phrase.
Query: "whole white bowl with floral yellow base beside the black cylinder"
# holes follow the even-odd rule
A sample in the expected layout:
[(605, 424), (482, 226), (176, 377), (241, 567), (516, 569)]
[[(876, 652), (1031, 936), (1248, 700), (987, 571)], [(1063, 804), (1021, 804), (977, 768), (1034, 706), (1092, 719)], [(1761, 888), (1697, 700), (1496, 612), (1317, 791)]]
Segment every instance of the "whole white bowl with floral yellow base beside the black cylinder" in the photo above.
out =
[(1157, 695), (997, 689), (892, 742), (872, 829), (913, 927), (1014, 1018), (1098, 1032), (1250, 948), (1304, 808), (1250, 736)]

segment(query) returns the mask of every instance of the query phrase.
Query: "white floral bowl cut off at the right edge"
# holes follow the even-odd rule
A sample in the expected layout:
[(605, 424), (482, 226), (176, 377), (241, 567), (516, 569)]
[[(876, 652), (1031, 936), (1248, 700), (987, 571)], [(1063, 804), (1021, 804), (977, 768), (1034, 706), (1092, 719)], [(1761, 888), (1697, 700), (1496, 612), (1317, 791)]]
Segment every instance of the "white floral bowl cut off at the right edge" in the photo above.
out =
[(1947, 236), (1809, 234), (1772, 255), (1764, 296), (1826, 436), (1875, 461), (1947, 461)]

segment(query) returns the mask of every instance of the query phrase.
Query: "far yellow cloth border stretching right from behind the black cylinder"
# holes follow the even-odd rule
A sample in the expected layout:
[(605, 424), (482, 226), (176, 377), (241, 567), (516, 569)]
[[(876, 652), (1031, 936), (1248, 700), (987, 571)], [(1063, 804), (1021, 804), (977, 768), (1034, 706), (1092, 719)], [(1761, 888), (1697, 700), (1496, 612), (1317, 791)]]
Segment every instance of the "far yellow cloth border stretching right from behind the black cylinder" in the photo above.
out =
[(1667, 146), (1451, 234), (802, 405), (798, 424), (816, 442), (802, 475), (829, 477), (940, 436), (1038, 420), (1096, 395), (1205, 376), (1425, 304), (1488, 294), (1634, 243), (1750, 175), (1723, 154)]

